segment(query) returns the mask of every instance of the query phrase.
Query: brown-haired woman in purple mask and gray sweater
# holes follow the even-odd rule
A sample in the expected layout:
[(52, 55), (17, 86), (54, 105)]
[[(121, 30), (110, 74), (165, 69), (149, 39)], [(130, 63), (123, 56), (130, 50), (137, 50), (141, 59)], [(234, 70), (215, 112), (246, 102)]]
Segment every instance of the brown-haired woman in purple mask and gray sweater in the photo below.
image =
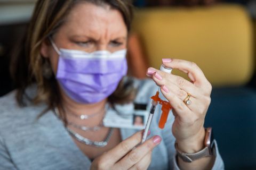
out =
[[(170, 114), (163, 131), (157, 115), (149, 139), (140, 145), (142, 131), (102, 125), (112, 107), (150, 103), (158, 89), (154, 81), (123, 78), (131, 11), (131, 4), (121, 0), (37, 2), (26, 55), (13, 61), (19, 88), (0, 99), (1, 169), (223, 168), (217, 147), (217, 154), (191, 163), (176, 159), (174, 141), (190, 154), (205, 147), (211, 85), (193, 63), (163, 59), (193, 83), (148, 69), (173, 107), (175, 117)], [(184, 98), (193, 104), (186, 105)]]

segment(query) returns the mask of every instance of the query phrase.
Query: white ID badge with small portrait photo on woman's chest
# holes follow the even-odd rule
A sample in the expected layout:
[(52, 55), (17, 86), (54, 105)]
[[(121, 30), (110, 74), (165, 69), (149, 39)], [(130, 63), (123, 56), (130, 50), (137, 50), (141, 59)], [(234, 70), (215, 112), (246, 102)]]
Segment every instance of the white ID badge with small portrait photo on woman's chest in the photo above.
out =
[(108, 109), (103, 118), (103, 125), (111, 128), (142, 130), (145, 129), (148, 115), (147, 104), (115, 105), (115, 109)]

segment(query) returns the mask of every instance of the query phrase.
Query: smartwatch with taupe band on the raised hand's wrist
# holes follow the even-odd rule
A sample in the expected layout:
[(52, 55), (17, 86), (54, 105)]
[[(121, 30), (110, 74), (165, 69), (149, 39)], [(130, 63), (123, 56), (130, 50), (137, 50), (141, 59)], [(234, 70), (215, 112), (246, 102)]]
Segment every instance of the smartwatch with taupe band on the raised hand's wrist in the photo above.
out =
[(182, 152), (178, 148), (178, 143), (175, 142), (175, 149), (177, 150), (177, 155), (184, 161), (191, 163), (196, 159), (200, 159), (203, 157), (211, 157), (216, 155), (215, 151), (215, 142), (213, 137), (212, 128), (206, 128), (205, 129), (205, 139), (204, 139), (204, 145), (205, 148), (194, 153), (194, 154), (188, 154), (185, 152)]

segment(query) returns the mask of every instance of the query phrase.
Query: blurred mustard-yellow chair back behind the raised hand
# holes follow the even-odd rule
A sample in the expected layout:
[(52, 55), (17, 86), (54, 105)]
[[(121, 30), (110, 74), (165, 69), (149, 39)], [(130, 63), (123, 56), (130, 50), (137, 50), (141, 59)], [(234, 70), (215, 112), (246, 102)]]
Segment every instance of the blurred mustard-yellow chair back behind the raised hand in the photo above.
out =
[(251, 79), (252, 29), (243, 7), (225, 4), (138, 9), (132, 28), (150, 66), (158, 68), (165, 57), (193, 61), (213, 86), (240, 85)]

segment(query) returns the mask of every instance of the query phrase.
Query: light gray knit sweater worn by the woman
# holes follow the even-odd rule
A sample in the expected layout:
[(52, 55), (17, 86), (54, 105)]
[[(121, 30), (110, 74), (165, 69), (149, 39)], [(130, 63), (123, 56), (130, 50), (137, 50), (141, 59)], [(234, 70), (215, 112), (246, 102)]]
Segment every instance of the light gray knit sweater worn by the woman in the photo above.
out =
[[(137, 81), (139, 88), (135, 101), (148, 103), (158, 89), (151, 80)], [(33, 95), (36, 88), (27, 89)], [(62, 122), (52, 111), (36, 119), (45, 104), (19, 107), (15, 91), (0, 98), (0, 169), (90, 169), (91, 161), (78, 149)], [(157, 107), (155, 113), (161, 113)], [(160, 114), (155, 114), (151, 134), (160, 135), (163, 141), (153, 150), (149, 169), (179, 169), (175, 161), (175, 138), (172, 135), (173, 115), (170, 113), (165, 129), (158, 128)], [(137, 130), (121, 129), (122, 139)], [(217, 146), (217, 145), (216, 145)], [(224, 169), (217, 147), (213, 169)]]

